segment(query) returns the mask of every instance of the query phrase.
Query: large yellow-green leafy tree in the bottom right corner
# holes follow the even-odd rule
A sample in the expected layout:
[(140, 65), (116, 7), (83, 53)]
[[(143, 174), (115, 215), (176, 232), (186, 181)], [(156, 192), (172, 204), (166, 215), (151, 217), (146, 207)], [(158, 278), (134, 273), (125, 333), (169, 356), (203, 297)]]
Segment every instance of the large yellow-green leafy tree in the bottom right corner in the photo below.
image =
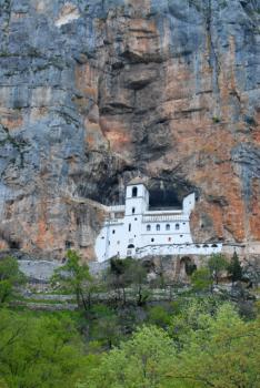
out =
[(244, 323), (230, 304), (220, 306), (214, 316), (199, 315), (198, 320), (200, 326), (189, 331), (171, 365), (172, 387), (259, 387), (259, 321)]

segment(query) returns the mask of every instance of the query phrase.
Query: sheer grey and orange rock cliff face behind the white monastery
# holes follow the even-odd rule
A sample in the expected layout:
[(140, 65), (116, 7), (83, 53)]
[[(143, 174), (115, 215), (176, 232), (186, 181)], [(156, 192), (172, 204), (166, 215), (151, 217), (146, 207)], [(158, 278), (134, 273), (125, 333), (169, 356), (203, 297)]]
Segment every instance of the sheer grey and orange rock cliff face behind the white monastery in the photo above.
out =
[[(0, 247), (87, 258), (138, 172), (260, 242), (258, 0), (0, 0)], [(90, 201), (93, 200), (93, 201)]]

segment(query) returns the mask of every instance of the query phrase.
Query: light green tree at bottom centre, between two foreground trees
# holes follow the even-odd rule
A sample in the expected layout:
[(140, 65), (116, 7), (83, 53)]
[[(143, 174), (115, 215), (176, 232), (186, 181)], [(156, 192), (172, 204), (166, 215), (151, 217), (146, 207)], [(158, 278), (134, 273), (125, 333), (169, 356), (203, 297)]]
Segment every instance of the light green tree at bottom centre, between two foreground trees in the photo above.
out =
[(156, 388), (164, 379), (174, 354), (170, 337), (160, 328), (138, 329), (127, 343), (102, 357), (87, 377), (88, 388)]

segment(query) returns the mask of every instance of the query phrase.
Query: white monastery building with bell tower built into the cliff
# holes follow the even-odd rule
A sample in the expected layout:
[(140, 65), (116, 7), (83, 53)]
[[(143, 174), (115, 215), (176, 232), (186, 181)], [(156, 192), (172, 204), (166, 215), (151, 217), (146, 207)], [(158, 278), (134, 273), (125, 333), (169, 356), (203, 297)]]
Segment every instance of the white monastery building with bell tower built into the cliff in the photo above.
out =
[(222, 244), (196, 244), (190, 232), (194, 193), (186, 196), (181, 210), (149, 210), (146, 183), (137, 177), (127, 185), (126, 205), (109, 206), (108, 217), (96, 241), (99, 262), (111, 257), (141, 258), (147, 255), (210, 255)]

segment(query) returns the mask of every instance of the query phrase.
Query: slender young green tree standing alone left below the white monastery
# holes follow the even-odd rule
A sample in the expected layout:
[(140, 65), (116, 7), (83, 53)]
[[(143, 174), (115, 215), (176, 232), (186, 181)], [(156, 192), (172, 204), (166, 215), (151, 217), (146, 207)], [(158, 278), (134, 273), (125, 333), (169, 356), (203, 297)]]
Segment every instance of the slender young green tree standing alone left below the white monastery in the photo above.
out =
[(80, 256), (77, 252), (69, 249), (67, 263), (57, 268), (52, 276), (52, 284), (59, 284), (60, 288), (76, 295), (79, 308), (83, 306), (88, 310), (93, 279), (87, 264), (80, 264)]

